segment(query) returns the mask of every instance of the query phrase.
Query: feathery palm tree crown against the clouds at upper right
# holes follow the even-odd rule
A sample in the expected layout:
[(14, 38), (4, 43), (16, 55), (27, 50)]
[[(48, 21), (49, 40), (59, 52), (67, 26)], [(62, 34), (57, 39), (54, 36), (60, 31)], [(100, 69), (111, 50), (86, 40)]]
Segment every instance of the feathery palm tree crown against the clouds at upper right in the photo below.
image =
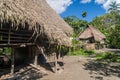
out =
[(110, 8), (108, 9), (108, 12), (112, 12), (112, 13), (120, 12), (120, 3), (117, 3), (116, 1), (114, 1), (109, 6)]

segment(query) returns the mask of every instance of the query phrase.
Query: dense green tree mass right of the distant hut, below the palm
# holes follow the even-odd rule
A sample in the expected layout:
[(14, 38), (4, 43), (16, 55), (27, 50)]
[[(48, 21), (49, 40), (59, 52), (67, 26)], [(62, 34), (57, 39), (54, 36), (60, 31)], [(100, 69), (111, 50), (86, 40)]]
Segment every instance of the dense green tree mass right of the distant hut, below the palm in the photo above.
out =
[(89, 24), (96, 26), (106, 35), (106, 43), (110, 48), (120, 48), (120, 14), (107, 13), (103, 16), (96, 17)]

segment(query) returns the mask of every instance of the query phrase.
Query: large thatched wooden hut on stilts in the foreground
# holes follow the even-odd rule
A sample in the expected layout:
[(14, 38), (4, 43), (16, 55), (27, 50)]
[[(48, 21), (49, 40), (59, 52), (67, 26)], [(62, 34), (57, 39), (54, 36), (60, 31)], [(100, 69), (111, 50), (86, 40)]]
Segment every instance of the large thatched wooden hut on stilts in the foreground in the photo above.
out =
[[(72, 28), (45, 0), (0, 0), (0, 47), (11, 47), (11, 73), (15, 56), (35, 59), (36, 50), (48, 46), (71, 47)], [(37, 47), (37, 48), (36, 48)]]

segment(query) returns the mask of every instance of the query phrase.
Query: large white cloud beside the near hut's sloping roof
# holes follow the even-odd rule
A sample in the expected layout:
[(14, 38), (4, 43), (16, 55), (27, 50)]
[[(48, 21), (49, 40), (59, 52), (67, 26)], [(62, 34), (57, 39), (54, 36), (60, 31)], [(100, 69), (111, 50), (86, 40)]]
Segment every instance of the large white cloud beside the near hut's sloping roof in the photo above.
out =
[(47, 3), (59, 14), (63, 13), (70, 4), (73, 3), (72, 0), (46, 0)]

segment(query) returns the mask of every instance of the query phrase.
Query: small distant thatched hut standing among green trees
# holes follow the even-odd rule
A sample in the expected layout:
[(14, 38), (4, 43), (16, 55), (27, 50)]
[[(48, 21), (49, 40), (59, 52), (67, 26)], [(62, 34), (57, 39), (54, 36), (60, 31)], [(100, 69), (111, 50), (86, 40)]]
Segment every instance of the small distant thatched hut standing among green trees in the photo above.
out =
[(78, 38), (84, 43), (86, 49), (96, 49), (97, 45), (104, 44), (106, 37), (96, 27), (87, 26), (87, 28), (78, 35)]

